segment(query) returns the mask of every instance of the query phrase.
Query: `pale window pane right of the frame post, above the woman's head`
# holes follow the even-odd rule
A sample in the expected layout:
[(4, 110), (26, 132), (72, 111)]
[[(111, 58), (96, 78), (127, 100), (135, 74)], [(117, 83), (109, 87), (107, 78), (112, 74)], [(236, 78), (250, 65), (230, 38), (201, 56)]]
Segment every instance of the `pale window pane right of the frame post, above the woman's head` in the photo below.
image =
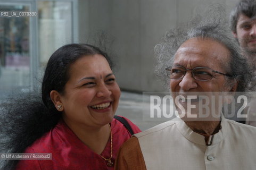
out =
[(52, 53), (72, 43), (71, 2), (39, 1), (39, 62), (44, 70)]

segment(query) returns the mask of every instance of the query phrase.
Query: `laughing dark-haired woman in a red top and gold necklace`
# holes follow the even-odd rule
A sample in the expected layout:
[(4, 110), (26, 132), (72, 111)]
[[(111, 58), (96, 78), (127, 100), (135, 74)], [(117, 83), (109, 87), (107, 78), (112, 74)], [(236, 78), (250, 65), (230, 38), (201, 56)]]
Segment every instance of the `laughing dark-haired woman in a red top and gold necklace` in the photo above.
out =
[[(42, 83), (43, 103), (51, 115), (46, 114), (51, 125), (46, 124), (45, 131), (52, 128), (24, 150), (52, 153), (52, 160), (20, 160), (16, 169), (113, 169), (119, 147), (131, 137), (113, 119), (119, 97), (106, 53), (86, 44), (57, 49)], [(140, 132), (127, 122), (135, 133)]]

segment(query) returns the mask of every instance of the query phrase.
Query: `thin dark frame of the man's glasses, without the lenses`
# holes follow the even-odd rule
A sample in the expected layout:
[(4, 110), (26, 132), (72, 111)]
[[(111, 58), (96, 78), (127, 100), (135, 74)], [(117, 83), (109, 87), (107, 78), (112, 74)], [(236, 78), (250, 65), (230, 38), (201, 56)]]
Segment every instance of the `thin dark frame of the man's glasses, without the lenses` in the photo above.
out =
[[(170, 78), (170, 79), (174, 79), (174, 80), (183, 79), (184, 76), (186, 75), (187, 71), (191, 71), (191, 73), (192, 73), (192, 78), (195, 79), (195, 80), (199, 80), (199, 81), (208, 81), (208, 80), (211, 80), (211, 79), (213, 78), (213, 75), (212, 75), (212, 77), (211, 77), (210, 79), (207, 79), (207, 80), (196, 79), (196, 78), (194, 77), (194, 70), (195, 70), (195, 69), (210, 69), (210, 68), (208, 68), (208, 67), (194, 67), (193, 69), (186, 69), (186, 68), (183, 67), (183, 66), (179, 66), (179, 65), (174, 65), (174, 66), (183, 68), (183, 69), (185, 70), (185, 72), (184, 72), (184, 75), (183, 75), (182, 77), (180, 77), (180, 78), (177, 78), (177, 79), (170, 78), (169, 75), (168, 75), (168, 71), (171, 71), (171, 69), (172, 69), (173, 66), (166, 67), (166, 68), (165, 68), (166, 74), (167, 74), (167, 77)], [(232, 75), (225, 74), (225, 73), (221, 73), (221, 72), (216, 71), (216, 70), (213, 70), (213, 69), (210, 69), (210, 70), (212, 70), (212, 74), (218, 73), (218, 74), (221, 74), (221, 75), (225, 75), (225, 76), (227, 76), (227, 77), (230, 77), (230, 78), (233, 77)]]

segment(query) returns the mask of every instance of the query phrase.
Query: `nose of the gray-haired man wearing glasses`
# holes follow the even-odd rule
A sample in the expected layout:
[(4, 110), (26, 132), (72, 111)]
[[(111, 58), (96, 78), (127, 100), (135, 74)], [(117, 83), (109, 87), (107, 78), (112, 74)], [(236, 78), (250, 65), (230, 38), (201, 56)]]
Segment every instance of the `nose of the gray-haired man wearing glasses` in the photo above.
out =
[(189, 91), (191, 89), (197, 88), (197, 83), (195, 79), (192, 77), (191, 71), (186, 72), (184, 77), (179, 82), (179, 87), (184, 91)]

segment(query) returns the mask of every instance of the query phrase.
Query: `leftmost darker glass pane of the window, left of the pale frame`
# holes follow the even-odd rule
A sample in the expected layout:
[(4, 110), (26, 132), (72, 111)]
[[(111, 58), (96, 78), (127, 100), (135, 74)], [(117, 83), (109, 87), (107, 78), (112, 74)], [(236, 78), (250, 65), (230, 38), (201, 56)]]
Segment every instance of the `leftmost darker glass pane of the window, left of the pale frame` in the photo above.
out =
[[(29, 11), (29, 5), (0, 4), (1, 11)], [(30, 18), (0, 18), (0, 98), (30, 86)]]

